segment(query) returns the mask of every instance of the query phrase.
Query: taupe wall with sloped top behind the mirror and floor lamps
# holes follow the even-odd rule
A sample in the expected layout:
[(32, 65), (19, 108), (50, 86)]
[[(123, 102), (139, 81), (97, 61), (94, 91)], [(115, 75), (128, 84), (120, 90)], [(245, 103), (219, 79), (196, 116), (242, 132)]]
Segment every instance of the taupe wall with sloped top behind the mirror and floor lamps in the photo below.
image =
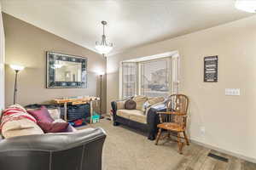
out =
[[(87, 48), (68, 42), (47, 31), (3, 14), (6, 39), (6, 105), (13, 102), (15, 72), (9, 64), (25, 65), (20, 71), (17, 102), (21, 105), (47, 102), (66, 96), (98, 95), (97, 71), (106, 71), (106, 59)], [(88, 88), (49, 89), (46, 87), (46, 51), (73, 54), (88, 58)], [(104, 77), (106, 80), (106, 77)], [(106, 106), (106, 81), (103, 82), (103, 108)]]

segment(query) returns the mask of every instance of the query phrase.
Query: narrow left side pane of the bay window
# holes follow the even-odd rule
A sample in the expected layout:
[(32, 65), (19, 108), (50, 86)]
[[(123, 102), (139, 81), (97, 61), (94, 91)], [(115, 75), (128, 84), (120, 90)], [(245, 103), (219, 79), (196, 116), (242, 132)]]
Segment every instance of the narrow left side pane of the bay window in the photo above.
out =
[(123, 98), (137, 94), (137, 63), (122, 64)]

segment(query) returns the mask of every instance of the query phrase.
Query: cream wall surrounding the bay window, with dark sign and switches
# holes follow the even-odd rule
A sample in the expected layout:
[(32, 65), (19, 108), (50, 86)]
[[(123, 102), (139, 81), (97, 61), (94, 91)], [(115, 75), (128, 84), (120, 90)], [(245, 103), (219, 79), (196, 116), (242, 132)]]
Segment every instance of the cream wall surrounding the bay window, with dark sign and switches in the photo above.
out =
[[(181, 55), (181, 93), (190, 99), (190, 138), (255, 161), (255, 16), (110, 56), (108, 111), (119, 97), (119, 61), (174, 50)], [(203, 57), (209, 55), (219, 58), (217, 83), (203, 82)], [(241, 96), (225, 96), (224, 88), (241, 88)]]

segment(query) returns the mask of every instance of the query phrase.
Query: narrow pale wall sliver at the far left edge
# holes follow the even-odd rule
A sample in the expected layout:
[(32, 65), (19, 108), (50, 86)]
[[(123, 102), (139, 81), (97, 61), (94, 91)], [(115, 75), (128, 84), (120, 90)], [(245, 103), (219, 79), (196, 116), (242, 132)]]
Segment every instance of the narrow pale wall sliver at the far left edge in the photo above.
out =
[[(1, 12), (1, 3), (0, 3)], [(0, 13), (0, 115), (4, 108), (4, 32), (3, 32), (3, 18)]]

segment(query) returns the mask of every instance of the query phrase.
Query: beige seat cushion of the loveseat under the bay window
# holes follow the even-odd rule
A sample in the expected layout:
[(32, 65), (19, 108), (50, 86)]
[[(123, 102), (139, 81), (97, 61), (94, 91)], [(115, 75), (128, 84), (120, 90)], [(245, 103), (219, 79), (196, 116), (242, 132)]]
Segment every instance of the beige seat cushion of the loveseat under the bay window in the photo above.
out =
[(118, 110), (117, 116), (124, 117), (131, 121), (147, 123), (147, 116), (144, 115), (143, 111), (139, 110)]

